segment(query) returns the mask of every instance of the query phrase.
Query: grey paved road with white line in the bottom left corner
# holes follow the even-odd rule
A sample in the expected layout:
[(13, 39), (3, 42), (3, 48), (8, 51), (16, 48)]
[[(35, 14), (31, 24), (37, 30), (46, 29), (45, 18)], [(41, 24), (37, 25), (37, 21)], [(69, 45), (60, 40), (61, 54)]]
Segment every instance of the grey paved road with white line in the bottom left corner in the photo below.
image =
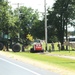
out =
[(59, 75), (0, 55), (0, 75)]

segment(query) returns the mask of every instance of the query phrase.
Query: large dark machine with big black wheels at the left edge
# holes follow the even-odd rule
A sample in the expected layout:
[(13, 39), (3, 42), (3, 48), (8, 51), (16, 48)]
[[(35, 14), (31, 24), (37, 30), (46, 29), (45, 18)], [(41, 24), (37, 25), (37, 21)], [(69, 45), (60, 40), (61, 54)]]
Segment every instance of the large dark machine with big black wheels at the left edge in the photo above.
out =
[(21, 49), (17, 40), (0, 38), (0, 50), (3, 50), (4, 47), (6, 48), (6, 51), (9, 51), (8, 48), (10, 48), (14, 52), (19, 52)]

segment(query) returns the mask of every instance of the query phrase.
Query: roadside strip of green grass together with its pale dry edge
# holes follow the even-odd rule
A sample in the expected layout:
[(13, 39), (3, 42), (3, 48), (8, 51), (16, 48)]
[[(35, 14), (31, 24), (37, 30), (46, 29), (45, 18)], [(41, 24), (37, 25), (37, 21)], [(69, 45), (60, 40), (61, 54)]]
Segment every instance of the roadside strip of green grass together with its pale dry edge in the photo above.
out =
[(61, 53), (51, 52), (49, 53), (50, 55), (49, 54), (47, 55), (47, 53), (29, 53), (29, 52), (16, 52), (16, 53), (6, 52), (6, 53), (8, 53), (12, 58), (16, 58), (17, 60), (21, 60), (23, 62), (25, 61), (32, 65), (39, 66), (55, 72), (60, 72), (60, 74), (63, 73), (62, 75), (75, 74), (74, 72), (75, 60), (51, 55), (51, 54), (64, 55), (65, 53), (63, 51)]

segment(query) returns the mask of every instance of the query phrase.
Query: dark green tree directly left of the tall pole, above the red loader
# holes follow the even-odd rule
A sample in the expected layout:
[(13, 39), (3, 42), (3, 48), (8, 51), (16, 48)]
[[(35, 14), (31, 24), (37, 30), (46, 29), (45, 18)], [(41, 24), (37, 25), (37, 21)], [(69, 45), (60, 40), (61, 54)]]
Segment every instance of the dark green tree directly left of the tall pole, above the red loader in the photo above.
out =
[(32, 35), (34, 38), (44, 39), (45, 36), (45, 28), (44, 21), (38, 20), (31, 29)]

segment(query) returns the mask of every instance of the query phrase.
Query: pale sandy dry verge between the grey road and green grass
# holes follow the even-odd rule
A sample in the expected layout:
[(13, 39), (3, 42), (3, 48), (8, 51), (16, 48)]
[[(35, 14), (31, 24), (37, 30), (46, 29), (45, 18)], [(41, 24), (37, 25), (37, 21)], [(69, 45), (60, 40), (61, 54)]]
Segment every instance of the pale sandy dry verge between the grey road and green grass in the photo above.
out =
[(56, 72), (60, 75), (75, 75), (74, 71), (69, 71), (67, 69), (62, 69), (61, 67), (57, 67), (56, 65), (52, 65), (52, 64), (48, 65), (48, 64), (43, 63), (41, 61), (38, 62), (37, 60), (33, 60), (33, 59), (30, 59), (30, 58), (27, 58), (27, 57), (25, 58), (25, 57), (17, 56), (17, 55), (14, 55), (14, 54), (10, 54), (9, 52), (0, 51), (0, 55), (7, 56), (9, 58), (13, 58), (13, 59), (21, 61), (21, 62), (29, 63), (29, 64), (32, 64), (34, 66), (44, 68), (46, 70)]

